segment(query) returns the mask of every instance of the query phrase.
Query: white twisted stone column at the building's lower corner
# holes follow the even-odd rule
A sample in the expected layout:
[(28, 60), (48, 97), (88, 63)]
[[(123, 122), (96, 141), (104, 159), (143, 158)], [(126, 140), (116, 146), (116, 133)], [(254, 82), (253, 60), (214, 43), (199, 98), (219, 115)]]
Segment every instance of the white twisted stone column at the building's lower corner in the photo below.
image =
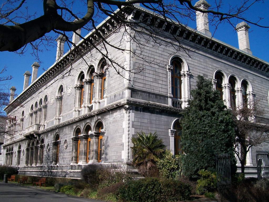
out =
[(124, 106), (126, 112), (126, 121), (125, 121), (125, 158), (124, 162), (130, 162), (130, 112), (131, 106)]

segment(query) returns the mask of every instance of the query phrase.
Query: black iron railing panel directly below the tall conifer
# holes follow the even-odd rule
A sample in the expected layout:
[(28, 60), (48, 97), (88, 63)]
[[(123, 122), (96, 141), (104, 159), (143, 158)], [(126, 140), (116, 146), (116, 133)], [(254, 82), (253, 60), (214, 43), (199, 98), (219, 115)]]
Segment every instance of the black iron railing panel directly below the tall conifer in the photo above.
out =
[(231, 158), (228, 154), (216, 154), (218, 192), (231, 187)]

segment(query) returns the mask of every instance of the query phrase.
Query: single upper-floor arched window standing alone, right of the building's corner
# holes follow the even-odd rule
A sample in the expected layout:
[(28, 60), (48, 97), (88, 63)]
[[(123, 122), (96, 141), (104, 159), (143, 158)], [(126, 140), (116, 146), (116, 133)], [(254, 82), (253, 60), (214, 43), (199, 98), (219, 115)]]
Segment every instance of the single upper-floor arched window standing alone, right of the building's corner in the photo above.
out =
[(176, 99), (181, 99), (181, 75), (182, 65), (178, 60), (172, 61), (173, 70), (171, 72), (172, 95)]

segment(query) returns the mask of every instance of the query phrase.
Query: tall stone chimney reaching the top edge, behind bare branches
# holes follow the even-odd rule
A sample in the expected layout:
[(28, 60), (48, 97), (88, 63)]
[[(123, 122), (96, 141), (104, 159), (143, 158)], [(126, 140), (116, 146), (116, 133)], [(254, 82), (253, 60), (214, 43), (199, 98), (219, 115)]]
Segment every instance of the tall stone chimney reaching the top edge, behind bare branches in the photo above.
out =
[[(210, 5), (205, 0), (200, 0), (200, 1), (197, 1), (194, 6), (201, 10), (207, 10)], [(208, 26), (207, 13), (196, 11), (196, 29), (197, 31), (202, 32), (211, 37), (211, 32), (209, 31), (209, 26)]]

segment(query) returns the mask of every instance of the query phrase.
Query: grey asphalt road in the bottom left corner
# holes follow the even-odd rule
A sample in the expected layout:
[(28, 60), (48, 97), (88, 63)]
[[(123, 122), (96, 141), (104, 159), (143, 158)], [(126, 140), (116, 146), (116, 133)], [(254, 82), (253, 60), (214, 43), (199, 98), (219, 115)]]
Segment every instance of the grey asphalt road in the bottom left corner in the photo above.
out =
[(104, 202), (101, 200), (68, 196), (36, 187), (0, 182), (0, 202)]

